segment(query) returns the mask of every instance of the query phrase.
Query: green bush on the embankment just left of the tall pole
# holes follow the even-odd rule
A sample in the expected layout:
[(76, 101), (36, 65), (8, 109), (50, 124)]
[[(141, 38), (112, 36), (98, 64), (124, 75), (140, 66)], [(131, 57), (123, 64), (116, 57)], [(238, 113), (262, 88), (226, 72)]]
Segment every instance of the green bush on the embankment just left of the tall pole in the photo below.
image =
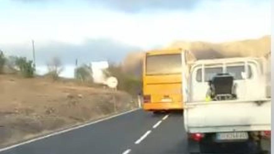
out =
[(20, 69), (23, 77), (33, 77), (35, 68), (31, 60), (27, 60), (26, 57), (17, 57), (15, 60), (16, 66)]

